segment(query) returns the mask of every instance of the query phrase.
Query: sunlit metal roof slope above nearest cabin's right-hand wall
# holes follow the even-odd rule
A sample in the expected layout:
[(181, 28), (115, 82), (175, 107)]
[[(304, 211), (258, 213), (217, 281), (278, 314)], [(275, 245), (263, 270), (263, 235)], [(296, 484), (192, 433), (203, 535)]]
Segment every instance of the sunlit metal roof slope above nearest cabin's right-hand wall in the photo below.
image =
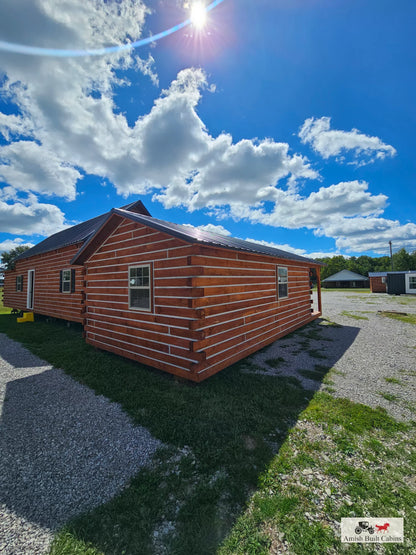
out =
[(172, 222), (165, 222), (164, 220), (158, 220), (157, 218), (152, 218), (151, 216), (136, 214), (119, 208), (113, 209), (112, 212), (191, 243), (200, 243), (202, 245), (252, 252), (255, 254), (266, 254), (267, 256), (274, 256), (276, 258), (298, 260), (299, 262), (309, 262), (321, 265), (319, 262), (316, 262), (311, 258), (299, 256), (274, 247), (267, 247), (251, 241), (236, 239), (235, 237), (226, 237), (225, 235), (220, 235), (219, 233), (214, 233), (212, 231), (206, 231), (187, 225), (174, 224)]

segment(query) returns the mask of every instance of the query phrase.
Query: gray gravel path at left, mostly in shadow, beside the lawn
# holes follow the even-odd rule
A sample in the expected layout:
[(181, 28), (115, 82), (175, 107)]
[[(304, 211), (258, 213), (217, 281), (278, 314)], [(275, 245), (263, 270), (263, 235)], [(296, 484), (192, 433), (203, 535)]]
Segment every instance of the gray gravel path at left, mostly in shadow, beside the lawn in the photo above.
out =
[(118, 493), (160, 442), (0, 334), (0, 553), (41, 554), (71, 517)]

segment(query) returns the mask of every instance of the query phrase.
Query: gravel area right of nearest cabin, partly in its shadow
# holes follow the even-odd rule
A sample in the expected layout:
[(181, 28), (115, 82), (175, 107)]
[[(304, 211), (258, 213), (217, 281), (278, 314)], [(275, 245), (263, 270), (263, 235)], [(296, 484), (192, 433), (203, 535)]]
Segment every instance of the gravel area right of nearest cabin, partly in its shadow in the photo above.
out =
[(334, 395), (416, 420), (416, 326), (379, 314), (416, 314), (416, 297), (323, 291), (322, 304), (322, 319), (253, 355), (251, 363), (312, 390), (326, 389), (322, 378), (335, 368), (329, 375)]

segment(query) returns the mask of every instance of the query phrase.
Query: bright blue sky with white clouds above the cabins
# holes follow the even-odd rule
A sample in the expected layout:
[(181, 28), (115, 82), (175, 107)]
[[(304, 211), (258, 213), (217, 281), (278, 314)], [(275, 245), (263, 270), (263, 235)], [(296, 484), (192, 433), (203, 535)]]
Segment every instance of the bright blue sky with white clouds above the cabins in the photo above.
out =
[[(190, 8), (3, 0), (0, 41), (123, 45)], [(138, 198), (308, 256), (416, 249), (415, 16), (411, 0), (223, 0), (132, 51), (0, 49), (0, 250)]]

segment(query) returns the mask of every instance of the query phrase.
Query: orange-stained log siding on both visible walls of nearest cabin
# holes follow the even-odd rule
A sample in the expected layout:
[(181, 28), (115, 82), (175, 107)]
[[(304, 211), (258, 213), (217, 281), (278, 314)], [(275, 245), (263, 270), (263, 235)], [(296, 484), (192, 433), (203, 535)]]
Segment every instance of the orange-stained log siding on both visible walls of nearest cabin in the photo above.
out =
[[(129, 309), (129, 267), (140, 265), (150, 265), (150, 311)], [(287, 299), (277, 296), (278, 266), (288, 269)], [(311, 267), (126, 219), (85, 262), (86, 341), (202, 381), (320, 315), (311, 310)]]

